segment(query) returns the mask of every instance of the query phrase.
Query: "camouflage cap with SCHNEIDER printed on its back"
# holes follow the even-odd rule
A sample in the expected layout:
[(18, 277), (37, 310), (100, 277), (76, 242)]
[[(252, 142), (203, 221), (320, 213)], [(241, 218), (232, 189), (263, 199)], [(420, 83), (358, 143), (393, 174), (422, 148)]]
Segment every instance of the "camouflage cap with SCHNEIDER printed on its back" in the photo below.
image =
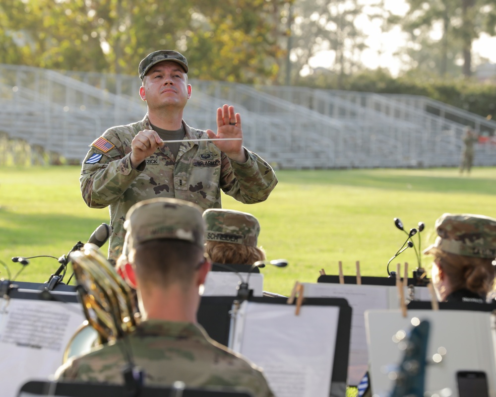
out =
[(205, 240), (256, 247), (260, 224), (253, 215), (232, 209), (207, 209), (203, 219)]

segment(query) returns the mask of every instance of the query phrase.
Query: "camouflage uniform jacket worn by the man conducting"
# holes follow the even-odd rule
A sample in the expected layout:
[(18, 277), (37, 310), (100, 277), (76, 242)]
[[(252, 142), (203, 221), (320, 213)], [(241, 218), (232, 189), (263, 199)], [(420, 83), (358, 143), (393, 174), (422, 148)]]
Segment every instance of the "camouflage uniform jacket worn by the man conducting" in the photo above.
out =
[[(183, 121), (185, 139), (208, 138), (205, 131)], [(272, 168), (246, 150), (248, 161), (231, 161), (211, 141), (183, 142), (177, 158), (163, 146), (133, 169), (131, 141), (142, 130), (152, 130), (148, 116), (137, 123), (113, 127), (90, 146), (79, 179), (81, 193), (92, 208), (110, 205), (112, 234), (109, 259), (116, 260), (124, 243), (124, 217), (136, 202), (157, 197), (177, 198), (202, 209), (220, 208), (220, 190), (243, 203), (267, 199), (277, 184)]]

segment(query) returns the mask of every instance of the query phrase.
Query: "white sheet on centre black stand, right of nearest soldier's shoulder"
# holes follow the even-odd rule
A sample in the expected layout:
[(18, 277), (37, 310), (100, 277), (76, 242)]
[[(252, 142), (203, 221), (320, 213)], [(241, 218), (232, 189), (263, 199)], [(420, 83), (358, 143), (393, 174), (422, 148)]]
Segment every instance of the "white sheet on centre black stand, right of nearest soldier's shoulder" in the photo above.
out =
[(328, 397), (339, 319), (337, 306), (245, 301), (233, 350), (262, 367), (276, 397)]

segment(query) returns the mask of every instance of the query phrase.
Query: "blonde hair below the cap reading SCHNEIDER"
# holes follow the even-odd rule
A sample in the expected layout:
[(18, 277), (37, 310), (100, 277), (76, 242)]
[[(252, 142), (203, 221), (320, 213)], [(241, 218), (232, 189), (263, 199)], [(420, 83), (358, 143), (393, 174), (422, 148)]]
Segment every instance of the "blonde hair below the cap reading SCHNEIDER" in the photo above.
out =
[(262, 247), (244, 244), (232, 244), (223, 241), (207, 241), (205, 251), (211, 261), (224, 265), (253, 265), (257, 261), (265, 261)]

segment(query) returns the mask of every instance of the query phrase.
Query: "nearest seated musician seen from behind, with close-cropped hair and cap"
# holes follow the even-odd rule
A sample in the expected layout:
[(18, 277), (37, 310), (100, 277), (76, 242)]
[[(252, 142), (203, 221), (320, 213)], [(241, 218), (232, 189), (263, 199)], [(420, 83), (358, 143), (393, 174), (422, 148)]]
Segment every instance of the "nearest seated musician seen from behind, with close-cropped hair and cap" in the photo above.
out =
[(135, 270), (143, 321), (125, 339), (73, 358), (56, 379), (124, 384), (127, 352), (145, 386), (227, 387), (273, 397), (261, 370), (208, 337), (196, 323), (210, 262), (204, 255), (201, 209), (178, 199), (134, 204), (125, 220), (126, 250)]

